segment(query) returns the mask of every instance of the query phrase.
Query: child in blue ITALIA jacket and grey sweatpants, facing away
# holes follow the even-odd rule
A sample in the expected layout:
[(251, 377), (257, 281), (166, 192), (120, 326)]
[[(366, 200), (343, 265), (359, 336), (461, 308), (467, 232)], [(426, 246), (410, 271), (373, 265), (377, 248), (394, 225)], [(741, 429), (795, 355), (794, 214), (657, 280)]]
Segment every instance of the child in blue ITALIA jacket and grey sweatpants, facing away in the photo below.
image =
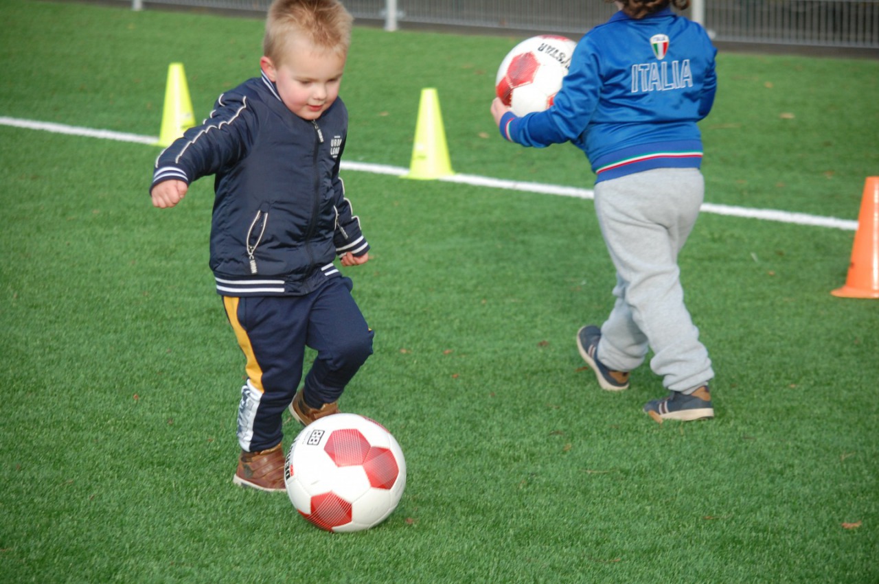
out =
[(708, 350), (684, 305), (678, 254), (704, 196), (701, 134), (711, 109), (716, 48), (701, 27), (675, 15), (688, 0), (621, 0), (619, 12), (578, 42), (568, 76), (545, 112), (516, 117), (499, 99), (503, 137), (544, 148), (570, 141), (596, 175), (595, 212), (616, 268), (614, 308), (577, 335), (599, 386), (628, 388), (650, 367), (667, 397), (643, 411), (657, 422), (714, 416)]

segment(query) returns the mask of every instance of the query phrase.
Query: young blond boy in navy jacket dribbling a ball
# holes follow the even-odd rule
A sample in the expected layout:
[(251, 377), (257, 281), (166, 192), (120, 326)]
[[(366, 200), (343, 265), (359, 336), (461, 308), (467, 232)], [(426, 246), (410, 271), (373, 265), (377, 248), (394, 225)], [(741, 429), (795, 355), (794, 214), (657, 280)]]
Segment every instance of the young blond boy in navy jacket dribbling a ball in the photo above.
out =
[[(283, 413), (289, 407), (302, 424), (337, 413), (372, 354), (352, 282), (333, 263), (369, 259), (338, 176), (352, 20), (338, 0), (275, 0), (262, 75), (223, 93), (210, 117), (156, 160), (150, 194), (159, 208), (214, 175), (210, 267), (246, 357), (233, 478), (241, 487), (285, 490)], [(316, 358), (297, 391), (306, 347)]]

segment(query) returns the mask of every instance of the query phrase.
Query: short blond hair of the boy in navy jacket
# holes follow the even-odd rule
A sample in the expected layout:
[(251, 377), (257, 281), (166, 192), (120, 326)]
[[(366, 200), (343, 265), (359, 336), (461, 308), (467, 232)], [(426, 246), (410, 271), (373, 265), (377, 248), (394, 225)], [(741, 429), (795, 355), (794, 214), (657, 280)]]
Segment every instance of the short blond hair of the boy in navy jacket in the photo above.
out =
[(280, 63), (287, 40), (294, 36), (317, 48), (347, 54), (353, 21), (338, 0), (274, 0), (265, 19), (263, 54)]

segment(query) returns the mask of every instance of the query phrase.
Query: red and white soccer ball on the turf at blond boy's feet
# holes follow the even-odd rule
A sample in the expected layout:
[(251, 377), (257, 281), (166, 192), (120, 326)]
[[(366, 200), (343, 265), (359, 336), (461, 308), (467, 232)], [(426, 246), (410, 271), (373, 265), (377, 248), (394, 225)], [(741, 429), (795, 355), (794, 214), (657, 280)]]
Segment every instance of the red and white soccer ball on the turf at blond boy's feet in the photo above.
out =
[(378, 422), (356, 414), (328, 415), (296, 436), (284, 482), (296, 510), (322, 530), (367, 530), (400, 501), (406, 460)]

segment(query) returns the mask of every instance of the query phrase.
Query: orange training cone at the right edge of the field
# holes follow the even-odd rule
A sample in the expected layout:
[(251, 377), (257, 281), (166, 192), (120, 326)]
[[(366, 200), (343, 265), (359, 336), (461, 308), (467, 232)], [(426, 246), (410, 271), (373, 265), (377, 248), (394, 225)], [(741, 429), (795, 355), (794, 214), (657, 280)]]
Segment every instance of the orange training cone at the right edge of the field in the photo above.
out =
[(831, 293), (842, 298), (879, 298), (879, 177), (867, 177), (864, 184), (846, 285)]

